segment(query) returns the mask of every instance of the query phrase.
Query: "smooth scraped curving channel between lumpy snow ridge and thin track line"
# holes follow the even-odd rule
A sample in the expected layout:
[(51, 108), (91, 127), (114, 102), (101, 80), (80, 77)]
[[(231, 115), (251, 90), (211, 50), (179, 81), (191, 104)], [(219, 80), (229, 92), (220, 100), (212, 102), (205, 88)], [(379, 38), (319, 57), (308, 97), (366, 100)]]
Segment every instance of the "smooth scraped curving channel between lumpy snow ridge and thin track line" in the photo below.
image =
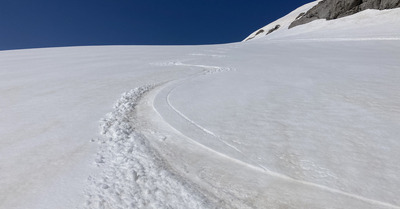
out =
[[(220, 197), (221, 200), (231, 200), (229, 203), (220, 202), (219, 208), (280, 208), (287, 206), (296, 208), (398, 208), (391, 204), (293, 179), (247, 164), (243, 162), (243, 156), (232, 158), (214, 150), (212, 147), (215, 146), (209, 144), (205, 146), (204, 144), (207, 143), (204, 143), (199, 137), (200, 135), (197, 135), (196, 138), (188, 138), (179, 131), (182, 130), (182, 126), (171, 127), (165, 122), (163, 116), (167, 112), (164, 109), (151, 107), (151, 104), (160, 97), (167, 103), (168, 94), (165, 95), (162, 92), (170, 92), (171, 88), (180, 85), (182, 85), (182, 81), (171, 82), (164, 87), (158, 87), (149, 96), (146, 96), (145, 101), (139, 104), (138, 117), (141, 118), (141, 121), (151, 122), (147, 124), (147, 127), (141, 126), (140, 130), (147, 132), (145, 135), (155, 143), (155, 147), (162, 150), (164, 158), (171, 162), (171, 165), (179, 170), (181, 175), (196, 182), (204, 190)], [(162, 114), (157, 109), (162, 110)], [(177, 114), (188, 120), (186, 116), (181, 115), (182, 113)], [(199, 129), (200, 134), (204, 132), (215, 137), (214, 134), (193, 124), (193, 121), (188, 120), (187, 122)], [(184, 126), (183, 128), (185, 133), (188, 129), (190, 133), (195, 132), (190, 127)], [(200, 142), (199, 139), (201, 139)], [(225, 148), (228, 148), (226, 144)], [(310, 165), (305, 166), (310, 168)], [(231, 171), (234, 175), (227, 175), (226, 171)], [(284, 195), (282, 196), (282, 194)], [(316, 196), (318, 199), (314, 198)]]

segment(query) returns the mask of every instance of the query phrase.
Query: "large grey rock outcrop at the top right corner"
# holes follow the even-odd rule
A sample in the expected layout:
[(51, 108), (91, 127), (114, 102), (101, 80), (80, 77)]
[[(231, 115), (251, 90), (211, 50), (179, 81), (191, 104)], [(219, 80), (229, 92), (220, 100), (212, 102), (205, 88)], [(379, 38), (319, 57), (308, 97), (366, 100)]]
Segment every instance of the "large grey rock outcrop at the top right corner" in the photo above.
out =
[(323, 0), (306, 14), (293, 21), (289, 28), (317, 19), (333, 20), (349, 16), (366, 9), (393, 9), (400, 7), (400, 0)]

